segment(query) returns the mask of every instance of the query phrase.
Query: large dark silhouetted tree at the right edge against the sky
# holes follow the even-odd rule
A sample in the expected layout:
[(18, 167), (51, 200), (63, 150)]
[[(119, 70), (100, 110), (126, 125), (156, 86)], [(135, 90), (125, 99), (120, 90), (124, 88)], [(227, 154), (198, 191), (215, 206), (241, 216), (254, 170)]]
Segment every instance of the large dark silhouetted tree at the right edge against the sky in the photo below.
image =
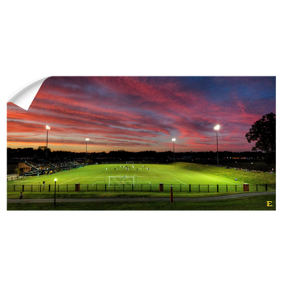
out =
[(274, 162), (278, 151), (278, 115), (271, 112), (262, 116), (246, 133), (246, 138), (249, 143), (256, 141), (253, 151), (266, 152), (269, 163)]

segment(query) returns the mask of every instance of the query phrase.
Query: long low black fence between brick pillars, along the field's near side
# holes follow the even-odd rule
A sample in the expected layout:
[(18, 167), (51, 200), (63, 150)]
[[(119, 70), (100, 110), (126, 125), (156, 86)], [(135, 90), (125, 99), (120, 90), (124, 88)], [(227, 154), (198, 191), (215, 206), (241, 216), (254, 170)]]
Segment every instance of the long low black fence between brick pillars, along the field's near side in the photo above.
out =
[[(5, 185), (5, 192), (54, 192), (54, 185)], [(170, 192), (171, 185), (163, 185), (164, 192)], [(56, 185), (57, 192), (75, 192), (76, 185)], [(278, 184), (249, 185), (250, 192), (278, 190)], [(80, 185), (81, 192), (127, 191), (158, 192), (159, 185)], [(243, 192), (243, 185), (173, 185), (175, 192)]]

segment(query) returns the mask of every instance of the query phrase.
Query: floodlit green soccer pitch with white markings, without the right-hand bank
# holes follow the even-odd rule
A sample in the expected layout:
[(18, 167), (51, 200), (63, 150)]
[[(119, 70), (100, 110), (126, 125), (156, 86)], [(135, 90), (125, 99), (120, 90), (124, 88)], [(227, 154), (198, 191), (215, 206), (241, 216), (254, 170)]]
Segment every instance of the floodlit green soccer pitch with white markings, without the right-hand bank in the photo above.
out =
[[(15, 180), (13, 183), (15, 185), (37, 185), (38, 182), (42, 184), (42, 181), (45, 180), (45, 185), (54, 185), (54, 178), (57, 178), (57, 185), (74, 185), (75, 183), (81, 183), (83, 185), (107, 184), (110, 186), (114, 184), (126, 185), (132, 183), (134, 183), (134, 185), (158, 185), (159, 183), (163, 183), (164, 185), (237, 184), (234, 180), (229, 178), (219, 177), (217, 175), (209, 175), (203, 172), (199, 173), (193, 170), (193, 166), (195, 164), (186, 164), (187, 168), (177, 166), (178, 164), (89, 165), (52, 175), (40, 175), (39, 178), (35, 176), (22, 180)], [(127, 170), (126, 166), (129, 167), (129, 170)]]

